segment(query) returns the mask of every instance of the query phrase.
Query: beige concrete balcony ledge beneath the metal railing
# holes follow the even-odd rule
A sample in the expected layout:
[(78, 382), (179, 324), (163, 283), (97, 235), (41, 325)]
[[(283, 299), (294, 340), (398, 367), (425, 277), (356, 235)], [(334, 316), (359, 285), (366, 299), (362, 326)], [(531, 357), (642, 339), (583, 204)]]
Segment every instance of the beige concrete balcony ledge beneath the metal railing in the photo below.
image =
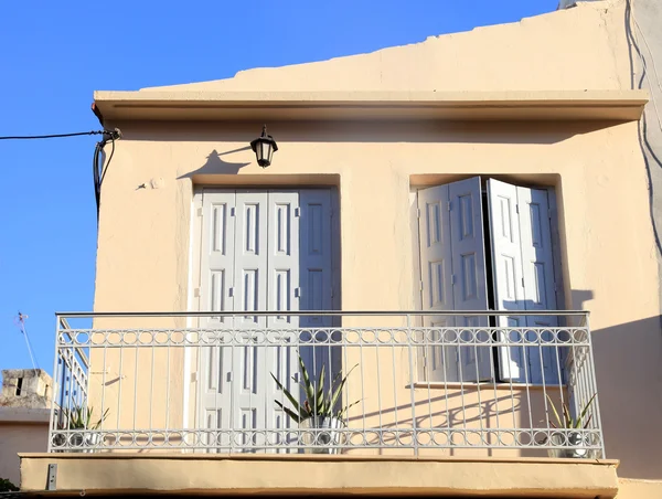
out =
[(617, 460), (402, 456), (20, 454), (21, 490), (195, 495), (613, 498)]

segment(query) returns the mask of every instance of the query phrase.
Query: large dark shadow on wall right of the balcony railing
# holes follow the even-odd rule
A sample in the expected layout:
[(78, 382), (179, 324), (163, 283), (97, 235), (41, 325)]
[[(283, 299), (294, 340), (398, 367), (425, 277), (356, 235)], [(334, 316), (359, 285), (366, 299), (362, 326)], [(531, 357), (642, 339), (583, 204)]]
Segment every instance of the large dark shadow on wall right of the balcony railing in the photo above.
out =
[(621, 478), (662, 479), (660, 316), (592, 333), (608, 458)]

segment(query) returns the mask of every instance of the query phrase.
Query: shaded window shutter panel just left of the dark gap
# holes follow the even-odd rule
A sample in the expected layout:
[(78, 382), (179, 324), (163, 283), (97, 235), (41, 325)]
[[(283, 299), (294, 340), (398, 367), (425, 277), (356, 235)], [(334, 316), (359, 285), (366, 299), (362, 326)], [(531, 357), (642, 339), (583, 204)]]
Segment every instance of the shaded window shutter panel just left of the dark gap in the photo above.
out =
[[(450, 202), (450, 234), (453, 274), (455, 310), (487, 310), (488, 293), (485, 276), (484, 233), (482, 223), (482, 197), (480, 177), (453, 182), (448, 185)], [(458, 316), (456, 327), (488, 327), (487, 317)], [(460, 332), (471, 339), (471, 331)], [(487, 330), (479, 335), (488, 339)], [(460, 379), (483, 381), (491, 379), (489, 347), (460, 348)]]

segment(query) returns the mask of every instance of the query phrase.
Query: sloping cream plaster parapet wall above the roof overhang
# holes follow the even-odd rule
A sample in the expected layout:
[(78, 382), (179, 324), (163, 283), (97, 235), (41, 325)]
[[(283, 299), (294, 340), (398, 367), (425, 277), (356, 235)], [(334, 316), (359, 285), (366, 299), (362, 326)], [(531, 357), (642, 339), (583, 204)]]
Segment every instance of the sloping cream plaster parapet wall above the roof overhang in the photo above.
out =
[(517, 23), (430, 36), (370, 54), (248, 70), (229, 79), (142, 92), (629, 88), (623, 14), (623, 0), (586, 2)]

